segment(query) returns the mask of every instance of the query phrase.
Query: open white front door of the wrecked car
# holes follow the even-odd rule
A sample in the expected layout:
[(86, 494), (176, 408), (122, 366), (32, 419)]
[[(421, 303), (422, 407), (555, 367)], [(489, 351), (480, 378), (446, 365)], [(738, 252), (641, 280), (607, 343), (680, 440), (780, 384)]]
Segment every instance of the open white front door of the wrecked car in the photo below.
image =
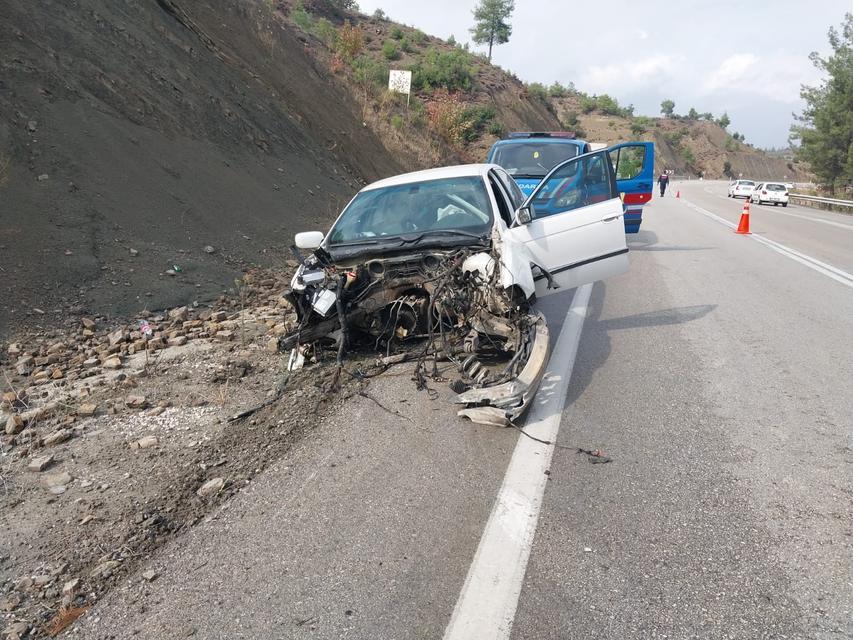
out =
[(557, 165), (516, 212), (506, 240), (523, 246), (537, 296), (628, 270), (622, 201), (607, 149)]

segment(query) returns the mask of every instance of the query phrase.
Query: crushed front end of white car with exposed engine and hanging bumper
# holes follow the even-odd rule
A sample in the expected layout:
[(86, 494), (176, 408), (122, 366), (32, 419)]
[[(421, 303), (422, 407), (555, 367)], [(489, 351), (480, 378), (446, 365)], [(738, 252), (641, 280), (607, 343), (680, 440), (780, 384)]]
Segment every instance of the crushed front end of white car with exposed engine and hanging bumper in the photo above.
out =
[(459, 414), (508, 424), (538, 386), (548, 331), (523, 294), (500, 285), (499, 263), (494, 250), (470, 248), (340, 263), (318, 249), (287, 294), (299, 324), (280, 348), (293, 350), (291, 365), (305, 345), (335, 348), (339, 365), (348, 349), (370, 348), (389, 363), (414, 361), (420, 388), (449, 360)]

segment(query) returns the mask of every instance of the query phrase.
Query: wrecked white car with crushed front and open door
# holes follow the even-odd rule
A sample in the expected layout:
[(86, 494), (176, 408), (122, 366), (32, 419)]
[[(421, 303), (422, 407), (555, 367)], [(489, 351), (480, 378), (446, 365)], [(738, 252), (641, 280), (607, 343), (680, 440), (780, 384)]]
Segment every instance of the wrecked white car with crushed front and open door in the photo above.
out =
[(460, 415), (513, 422), (548, 360), (536, 298), (627, 270), (614, 169), (606, 149), (572, 158), (526, 200), (491, 164), (365, 187), (328, 233), (297, 234), (301, 264), (287, 295), (299, 324), (282, 349), (294, 362), (325, 343), (340, 364), (366, 346), (386, 363), (416, 361), (424, 387), (435, 362), (450, 361)]

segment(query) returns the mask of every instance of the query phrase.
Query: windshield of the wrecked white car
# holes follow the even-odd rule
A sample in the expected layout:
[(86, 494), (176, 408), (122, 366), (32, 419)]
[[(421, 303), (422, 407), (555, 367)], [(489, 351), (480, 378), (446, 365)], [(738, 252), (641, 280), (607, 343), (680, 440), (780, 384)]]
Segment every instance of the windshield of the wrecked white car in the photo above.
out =
[(476, 237), (490, 233), (492, 220), (481, 176), (411, 182), (360, 192), (329, 232), (328, 244), (441, 234)]

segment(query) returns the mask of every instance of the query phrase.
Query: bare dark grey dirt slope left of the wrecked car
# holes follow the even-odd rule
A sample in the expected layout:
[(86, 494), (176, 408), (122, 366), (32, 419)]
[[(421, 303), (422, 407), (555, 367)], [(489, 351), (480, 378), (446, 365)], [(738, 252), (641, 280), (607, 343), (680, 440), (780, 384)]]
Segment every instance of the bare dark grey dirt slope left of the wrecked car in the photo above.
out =
[(0, 334), (215, 295), (400, 170), (265, 3), (3, 13)]

